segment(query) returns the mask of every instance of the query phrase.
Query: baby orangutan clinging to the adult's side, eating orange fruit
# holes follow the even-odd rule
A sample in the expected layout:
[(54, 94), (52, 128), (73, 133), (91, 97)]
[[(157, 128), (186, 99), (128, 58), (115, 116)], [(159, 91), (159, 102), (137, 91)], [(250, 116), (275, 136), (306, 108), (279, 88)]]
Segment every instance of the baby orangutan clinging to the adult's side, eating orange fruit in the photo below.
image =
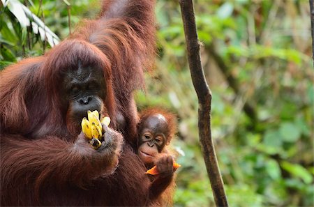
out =
[(138, 124), (137, 154), (147, 169), (156, 165), (158, 174), (151, 176), (150, 206), (172, 206), (174, 192), (174, 160), (165, 146), (176, 132), (176, 116), (163, 109), (146, 109)]

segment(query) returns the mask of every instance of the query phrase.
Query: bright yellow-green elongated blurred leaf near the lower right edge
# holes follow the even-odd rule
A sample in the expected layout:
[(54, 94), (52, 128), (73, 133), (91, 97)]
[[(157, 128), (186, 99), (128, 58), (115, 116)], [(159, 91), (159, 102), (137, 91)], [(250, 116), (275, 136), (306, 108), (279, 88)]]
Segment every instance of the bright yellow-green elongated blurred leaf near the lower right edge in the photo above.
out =
[(292, 174), (292, 176), (301, 178), (306, 184), (313, 182), (313, 176), (311, 173), (299, 164), (291, 164), (289, 162), (283, 161), (281, 162), (281, 167)]

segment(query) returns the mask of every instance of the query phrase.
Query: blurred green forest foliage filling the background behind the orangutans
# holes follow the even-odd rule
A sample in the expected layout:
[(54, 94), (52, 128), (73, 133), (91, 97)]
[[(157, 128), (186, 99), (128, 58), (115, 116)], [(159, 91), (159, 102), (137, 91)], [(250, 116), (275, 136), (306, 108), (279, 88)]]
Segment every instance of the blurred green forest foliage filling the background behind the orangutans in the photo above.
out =
[[(69, 2), (72, 29), (98, 11), (96, 0)], [(314, 72), (308, 1), (194, 3), (202, 64), (213, 95), (212, 136), (230, 206), (313, 206)], [(68, 36), (64, 1), (24, 4), (61, 39)], [(158, 0), (156, 19), (156, 70), (147, 74), (145, 91), (135, 94), (137, 106), (161, 105), (178, 116), (172, 147), (182, 167), (174, 206), (214, 206), (198, 141), (198, 103), (179, 3)], [(22, 28), (8, 8), (1, 7), (0, 29), (1, 68), (49, 47), (31, 28)]]

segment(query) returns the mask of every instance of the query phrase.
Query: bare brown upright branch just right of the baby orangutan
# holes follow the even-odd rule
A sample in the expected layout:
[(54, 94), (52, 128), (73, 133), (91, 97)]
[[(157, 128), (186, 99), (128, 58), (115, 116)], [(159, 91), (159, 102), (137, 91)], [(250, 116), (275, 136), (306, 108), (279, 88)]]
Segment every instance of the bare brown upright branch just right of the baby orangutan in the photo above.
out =
[(211, 139), (211, 91), (204, 77), (204, 70), (200, 60), (200, 43), (197, 38), (193, 1), (179, 0), (179, 3), (184, 23), (190, 74), (199, 102), (198, 128), (200, 145), (216, 206), (228, 206), (214, 143)]

